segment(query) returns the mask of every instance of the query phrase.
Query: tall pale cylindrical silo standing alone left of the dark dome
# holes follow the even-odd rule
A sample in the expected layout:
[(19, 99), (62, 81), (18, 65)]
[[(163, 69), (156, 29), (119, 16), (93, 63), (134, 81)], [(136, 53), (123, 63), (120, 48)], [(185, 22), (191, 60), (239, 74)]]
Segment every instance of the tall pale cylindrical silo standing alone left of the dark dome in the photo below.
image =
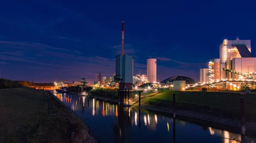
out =
[(157, 82), (157, 59), (147, 59), (147, 82)]

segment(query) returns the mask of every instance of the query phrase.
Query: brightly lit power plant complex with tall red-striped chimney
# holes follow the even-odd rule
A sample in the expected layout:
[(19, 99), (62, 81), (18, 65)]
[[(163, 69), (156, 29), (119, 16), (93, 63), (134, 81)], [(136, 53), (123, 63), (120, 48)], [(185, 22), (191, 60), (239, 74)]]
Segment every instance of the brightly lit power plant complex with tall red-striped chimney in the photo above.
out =
[[(219, 45), (219, 58), (209, 59), (208, 67), (198, 69), (200, 81), (174, 75), (157, 81), (157, 59), (147, 59), (146, 75), (134, 76), (133, 56), (126, 55), (124, 49), (124, 22), (122, 22), (122, 49), (116, 56), (116, 70), (111, 77), (96, 75), (92, 86), (118, 89), (122, 104), (131, 100), (134, 90), (215, 90), (240, 91), (256, 88), (256, 58), (251, 53), (250, 40), (227, 40)], [(206, 63), (207, 64), (207, 63)]]

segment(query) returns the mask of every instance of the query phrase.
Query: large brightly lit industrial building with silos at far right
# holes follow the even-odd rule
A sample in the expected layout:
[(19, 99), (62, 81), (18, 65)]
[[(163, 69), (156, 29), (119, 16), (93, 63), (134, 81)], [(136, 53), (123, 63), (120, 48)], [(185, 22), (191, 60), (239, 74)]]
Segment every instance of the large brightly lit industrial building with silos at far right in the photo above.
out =
[(208, 69), (200, 69), (201, 86), (210, 85), (218, 90), (255, 89), (256, 58), (251, 53), (250, 40), (224, 39), (219, 55), (219, 59), (209, 61)]

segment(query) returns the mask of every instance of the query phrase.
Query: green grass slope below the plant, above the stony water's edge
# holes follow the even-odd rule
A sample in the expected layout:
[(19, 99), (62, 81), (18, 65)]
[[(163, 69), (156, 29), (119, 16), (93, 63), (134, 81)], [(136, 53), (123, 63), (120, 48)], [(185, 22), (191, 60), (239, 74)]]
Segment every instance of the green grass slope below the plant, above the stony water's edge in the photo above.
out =
[[(221, 115), (227, 118), (240, 119), (240, 93), (224, 92), (190, 92), (164, 91), (157, 95), (147, 96), (141, 105), (172, 108), (173, 94), (176, 95), (176, 109)], [(135, 105), (138, 105), (136, 103)], [(245, 97), (245, 115), (249, 121), (256, 121), (256, 94)]]

